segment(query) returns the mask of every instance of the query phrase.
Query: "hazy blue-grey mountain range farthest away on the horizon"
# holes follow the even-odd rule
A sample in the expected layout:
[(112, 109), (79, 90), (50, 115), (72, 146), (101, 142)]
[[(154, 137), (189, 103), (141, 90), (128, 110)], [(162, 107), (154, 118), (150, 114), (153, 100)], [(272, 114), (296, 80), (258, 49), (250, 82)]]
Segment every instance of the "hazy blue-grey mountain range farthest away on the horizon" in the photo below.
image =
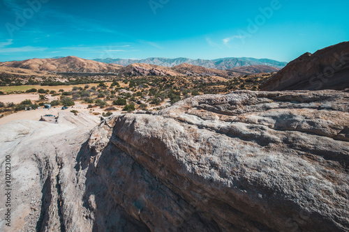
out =
[(130, 65), (133, 63), (148, 63), (151, 65), (159, 65), (164, 67), (174, 67), (181, 65), (182, 63), (188, 63), (191, 65), (202, 66), (205, 68), (216, 68), (219, 70), (229, 70), (236, 67), (249, 66), (249, 65), (268, 65), (275, 68), (283, 68), (287, 65), (286, 62), (279, 62), (270, 59), (254, 59), (254, 58), (223, 58), (215, 60), (204, 60), (204, 59), (166, 59), (166, 58), (148, 58), (148, 59), (94, 59), (94, 61), (102, 63), (114, 63), (119, 65)]

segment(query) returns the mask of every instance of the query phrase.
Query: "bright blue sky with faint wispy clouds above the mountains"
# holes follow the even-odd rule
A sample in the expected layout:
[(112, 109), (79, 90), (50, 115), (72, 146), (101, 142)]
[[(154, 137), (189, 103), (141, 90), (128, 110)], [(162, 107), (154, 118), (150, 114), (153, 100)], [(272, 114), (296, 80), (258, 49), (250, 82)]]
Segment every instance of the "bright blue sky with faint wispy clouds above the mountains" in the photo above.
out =
[[(31, 3), (31, 4), (30, 4)], [(0, 0), (0, 61), (292, 61), (349, 40), (348, 1)]]

